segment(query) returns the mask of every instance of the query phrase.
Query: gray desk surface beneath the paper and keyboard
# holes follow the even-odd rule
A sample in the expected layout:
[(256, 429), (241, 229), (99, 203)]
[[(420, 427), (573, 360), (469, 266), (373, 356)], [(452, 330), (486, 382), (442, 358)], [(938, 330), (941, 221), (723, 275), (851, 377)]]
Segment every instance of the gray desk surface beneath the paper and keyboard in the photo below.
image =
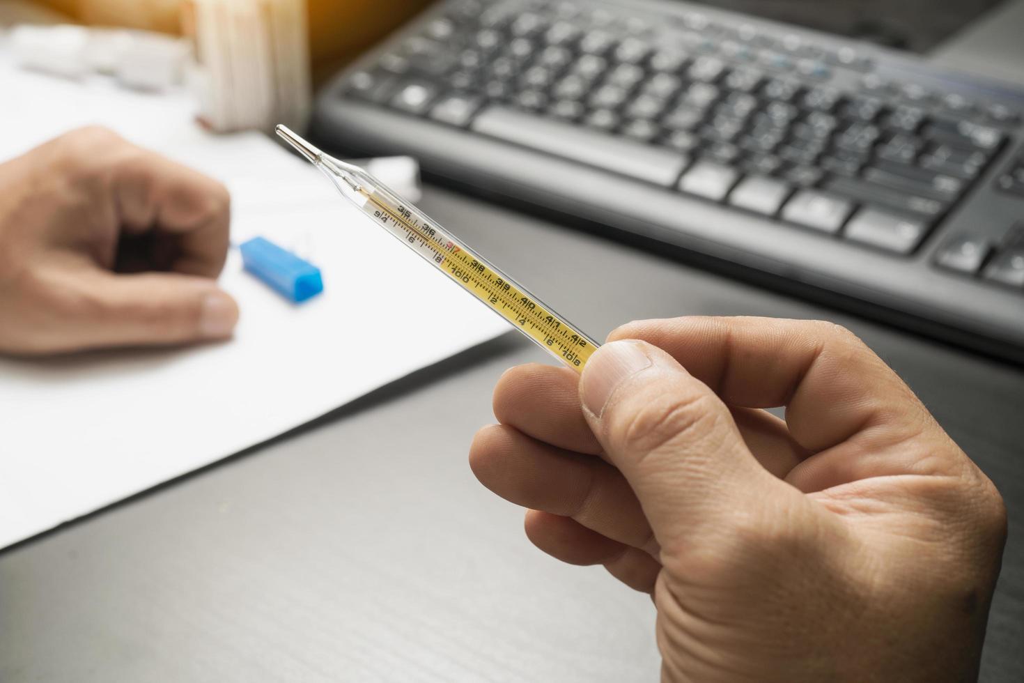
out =
[[(424, 208), (595, 336), (679, 314), (854, 330), (1007, 500), (982, 679), (1024, 680), (1024, 370), (446, 190)], [(466, 465), (498, 376), (529, 360), (506, 335), (0, 553), (0, 680), (657, 680), (646, 596), (532, 549)]]

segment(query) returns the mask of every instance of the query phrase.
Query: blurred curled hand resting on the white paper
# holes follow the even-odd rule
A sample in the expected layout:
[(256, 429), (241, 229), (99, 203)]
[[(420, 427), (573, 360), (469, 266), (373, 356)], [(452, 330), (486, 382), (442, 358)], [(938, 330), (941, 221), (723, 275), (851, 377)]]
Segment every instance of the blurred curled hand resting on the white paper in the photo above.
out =
[(0, 165), (0, 352), (223, 339), (219, 182), (102, 128)]

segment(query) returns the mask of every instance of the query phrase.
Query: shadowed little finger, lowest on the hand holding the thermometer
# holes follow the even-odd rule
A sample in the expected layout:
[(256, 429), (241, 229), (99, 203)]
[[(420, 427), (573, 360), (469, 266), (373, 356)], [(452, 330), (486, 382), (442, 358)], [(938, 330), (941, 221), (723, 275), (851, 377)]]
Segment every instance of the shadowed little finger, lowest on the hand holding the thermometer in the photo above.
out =
[(616, 543), (568, 517), (529, 510), (526, 537), (535, 546), (568, 564), (603, 564), (612, 577), (637, 591), (650, 593), (662, 565), (636, 548)]

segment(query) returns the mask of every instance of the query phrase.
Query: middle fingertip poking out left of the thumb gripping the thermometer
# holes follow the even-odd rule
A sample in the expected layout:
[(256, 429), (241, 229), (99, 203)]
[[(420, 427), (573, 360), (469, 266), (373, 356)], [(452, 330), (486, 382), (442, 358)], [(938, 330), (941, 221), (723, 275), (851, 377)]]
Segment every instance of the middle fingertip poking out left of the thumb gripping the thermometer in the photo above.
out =
[(495, 387), (494, 410), (499, 422), (534, 438), (575, 453), (601, 452), (580, 410), (580, 375), (568, 368), (507, 370)]

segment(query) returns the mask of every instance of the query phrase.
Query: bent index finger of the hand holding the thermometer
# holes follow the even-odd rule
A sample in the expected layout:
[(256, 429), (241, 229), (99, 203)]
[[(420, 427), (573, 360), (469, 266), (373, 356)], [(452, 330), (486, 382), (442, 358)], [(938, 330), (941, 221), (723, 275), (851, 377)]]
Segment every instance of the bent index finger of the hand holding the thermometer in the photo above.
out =
[(790, 434), (818, 452), (878, 422), (919, 428), (928, 412), (874, 353), (839, 326), (760, 317), (631, 323), (609, 339), (664, 349), (730, 405), (785, 405)]

